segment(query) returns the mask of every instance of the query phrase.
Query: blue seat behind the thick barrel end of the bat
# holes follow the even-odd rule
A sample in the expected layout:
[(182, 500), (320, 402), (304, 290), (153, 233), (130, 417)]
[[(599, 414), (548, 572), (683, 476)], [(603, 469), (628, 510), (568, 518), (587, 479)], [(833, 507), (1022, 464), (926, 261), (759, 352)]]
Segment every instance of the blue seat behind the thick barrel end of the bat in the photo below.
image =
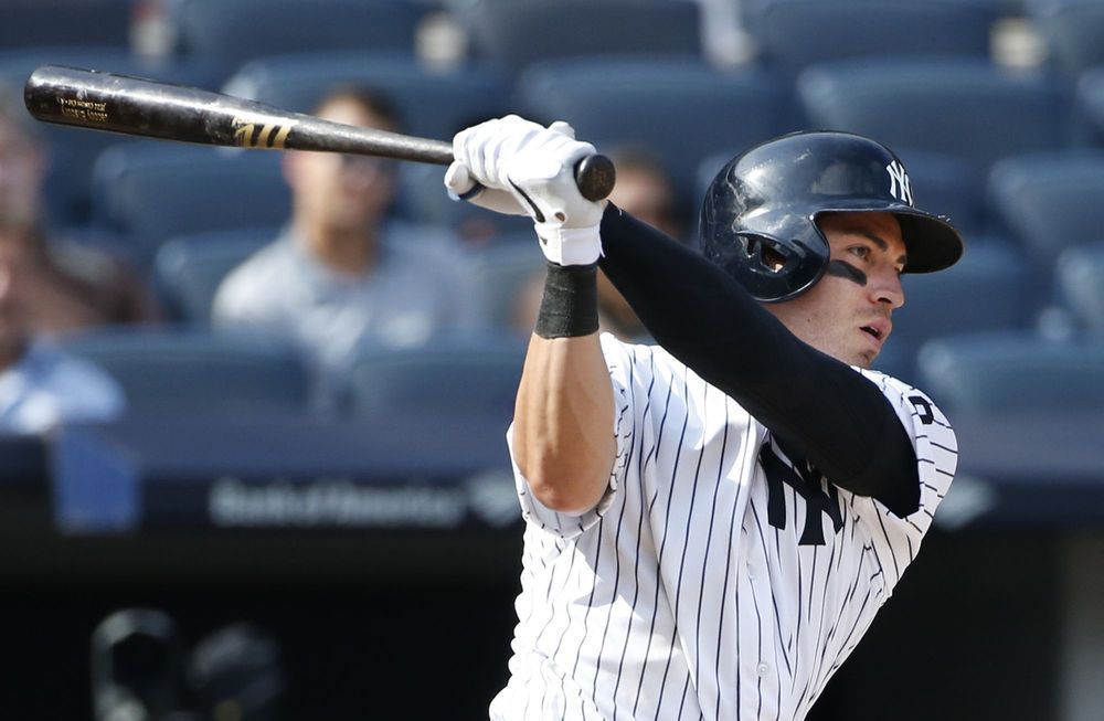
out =
[[(42, 46), (3, 51), (0, 52), (0, 83), (22, 97), (26, 77), (34, 68), (45, 64), (153, 77), (208, 89), (217, 87), (212, 66), (202, 60), (151, 63), (126, 49), (110, 46)], [(125, 136), (60, 125), (41, 124), (39, 127), (50, 147), (45, 190), (51, 224), (86, 224), (92, 212), (92, 168), (96, 157)]]

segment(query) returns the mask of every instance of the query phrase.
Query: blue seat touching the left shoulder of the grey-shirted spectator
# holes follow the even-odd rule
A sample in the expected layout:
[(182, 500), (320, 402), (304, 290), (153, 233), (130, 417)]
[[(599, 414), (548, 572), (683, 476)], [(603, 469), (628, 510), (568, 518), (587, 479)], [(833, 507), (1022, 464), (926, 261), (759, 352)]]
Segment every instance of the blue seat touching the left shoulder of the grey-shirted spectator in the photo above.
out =
[(223, 278), (279, 229), (211, 231), (170, 238), (157, 251), (155, 285), (177, 319), (197, 326), (211, 321), (211, 305)]

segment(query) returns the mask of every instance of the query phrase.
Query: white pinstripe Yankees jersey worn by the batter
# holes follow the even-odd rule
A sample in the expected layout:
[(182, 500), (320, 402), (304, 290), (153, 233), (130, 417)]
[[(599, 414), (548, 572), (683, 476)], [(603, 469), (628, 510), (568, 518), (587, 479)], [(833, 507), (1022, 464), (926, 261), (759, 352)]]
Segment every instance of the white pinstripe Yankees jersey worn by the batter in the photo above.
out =
[(597, 508), (551, 511), (514, 466), (522, 591), (491, 718), (805, 718), (915, 556), (954, 432), (923, 393), (859, 371), (916, 449), (921, 506), (898, 518), (804, 462), (790, 473), (762, 424), (661, 348), (602, 344), (617, 460)]

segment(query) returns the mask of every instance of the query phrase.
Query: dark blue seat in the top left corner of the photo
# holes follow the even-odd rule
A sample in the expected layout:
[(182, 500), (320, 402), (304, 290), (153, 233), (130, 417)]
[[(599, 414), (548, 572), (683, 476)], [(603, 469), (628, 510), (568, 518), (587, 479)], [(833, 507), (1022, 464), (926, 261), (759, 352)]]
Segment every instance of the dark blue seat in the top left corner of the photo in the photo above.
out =
[(132, 0), (4, 0), (0, 47), (83, 45), (88, 38), (130, 46)]

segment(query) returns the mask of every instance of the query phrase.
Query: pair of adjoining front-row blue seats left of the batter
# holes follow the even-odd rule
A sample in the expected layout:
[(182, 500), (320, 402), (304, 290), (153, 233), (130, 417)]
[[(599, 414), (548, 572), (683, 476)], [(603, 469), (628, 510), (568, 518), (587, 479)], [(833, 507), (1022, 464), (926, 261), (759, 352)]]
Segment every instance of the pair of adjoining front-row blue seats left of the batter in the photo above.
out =
[(118, 382), (130, 416), (212, 421), (323, 417), (323, 412), (507, 421), (524, 354), (522, 340), (508, 335), (444, 336), (405, 349), (367, 347), (340, 397), (319, 399), (318, 379), (301, 353), (264, 335), (130, 327), (86, 331), (61, 346)]

